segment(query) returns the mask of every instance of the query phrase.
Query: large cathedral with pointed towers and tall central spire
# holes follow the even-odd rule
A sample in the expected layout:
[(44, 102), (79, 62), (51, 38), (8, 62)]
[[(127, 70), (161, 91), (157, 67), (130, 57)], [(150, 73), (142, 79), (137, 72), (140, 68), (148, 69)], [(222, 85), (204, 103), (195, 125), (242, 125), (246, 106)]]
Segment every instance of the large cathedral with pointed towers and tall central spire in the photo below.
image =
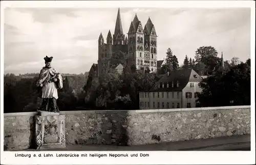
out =
[(157, 71), (157, 34), (155, 26), (148, 18), (144, 29), (135, 14), (127, 36), (123, 33), (120, 9), (118, 9), (115, 32), (109, 31), (106, 43), (102, 34), (98, 40), (97, 75), (108, 72), (113, 52), (122, 51), (129, 58), (129, 65), (135, 65), (137, 70), (149, 69)]

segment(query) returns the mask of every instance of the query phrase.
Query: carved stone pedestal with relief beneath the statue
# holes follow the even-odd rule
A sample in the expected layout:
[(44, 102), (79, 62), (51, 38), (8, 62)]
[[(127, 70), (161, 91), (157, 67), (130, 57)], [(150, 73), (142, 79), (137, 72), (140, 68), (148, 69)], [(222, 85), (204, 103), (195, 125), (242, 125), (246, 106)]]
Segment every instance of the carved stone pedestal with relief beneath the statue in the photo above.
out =
[(39, 112), (35, 116), (37, 149), (65, 148), (65, 115)]

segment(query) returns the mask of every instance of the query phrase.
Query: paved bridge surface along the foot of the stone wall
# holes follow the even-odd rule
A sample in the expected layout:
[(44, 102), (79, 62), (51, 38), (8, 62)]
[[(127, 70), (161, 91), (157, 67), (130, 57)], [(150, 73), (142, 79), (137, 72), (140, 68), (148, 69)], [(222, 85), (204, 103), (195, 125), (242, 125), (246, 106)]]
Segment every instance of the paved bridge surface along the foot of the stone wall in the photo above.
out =
[(247, 134), (133, 146), (67, 145), (64, 149), (47, 151), (250, 151), (250, 139), (250, 134)]

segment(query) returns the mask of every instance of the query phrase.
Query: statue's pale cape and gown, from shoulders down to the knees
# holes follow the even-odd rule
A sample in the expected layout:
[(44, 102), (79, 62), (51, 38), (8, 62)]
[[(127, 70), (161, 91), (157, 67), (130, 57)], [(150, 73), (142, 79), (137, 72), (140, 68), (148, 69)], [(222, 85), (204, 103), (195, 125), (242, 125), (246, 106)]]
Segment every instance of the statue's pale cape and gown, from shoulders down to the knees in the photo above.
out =
[[(48, 82), (53, 76), (57, 78), (56, 82)], [(57, 89), (63, 88), (62, 76), (54, 68), (43, 67), (39, 74), (38, 84), (42, 84), (42, 98), (58, 99)]]

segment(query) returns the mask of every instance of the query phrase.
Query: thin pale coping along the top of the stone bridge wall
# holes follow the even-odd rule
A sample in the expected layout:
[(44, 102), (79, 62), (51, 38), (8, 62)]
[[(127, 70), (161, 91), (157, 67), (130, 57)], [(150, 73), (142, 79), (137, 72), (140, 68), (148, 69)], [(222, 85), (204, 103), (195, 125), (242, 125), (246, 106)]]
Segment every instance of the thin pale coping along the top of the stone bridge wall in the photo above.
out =
[[(196, 107), (196, 108), (173, 108), (173, 109), (140, 109), (140, 110), (95, 110), (95, 111), (61, 111), (60, 115), (68, 114), (106, 114), (106, 113), (159, 113), (159, 112), (182, 112), (182, 111), (208, 111), (208, 110), (221, 110), (221, 109), (239, 109), (250, 108), (250, 105), (243, 106), (218, 106), (218, 107)], [(25, 113), (6, 113), (4, 117), (8, 116), (35, 116), (38, 112), (25, 112)]]

